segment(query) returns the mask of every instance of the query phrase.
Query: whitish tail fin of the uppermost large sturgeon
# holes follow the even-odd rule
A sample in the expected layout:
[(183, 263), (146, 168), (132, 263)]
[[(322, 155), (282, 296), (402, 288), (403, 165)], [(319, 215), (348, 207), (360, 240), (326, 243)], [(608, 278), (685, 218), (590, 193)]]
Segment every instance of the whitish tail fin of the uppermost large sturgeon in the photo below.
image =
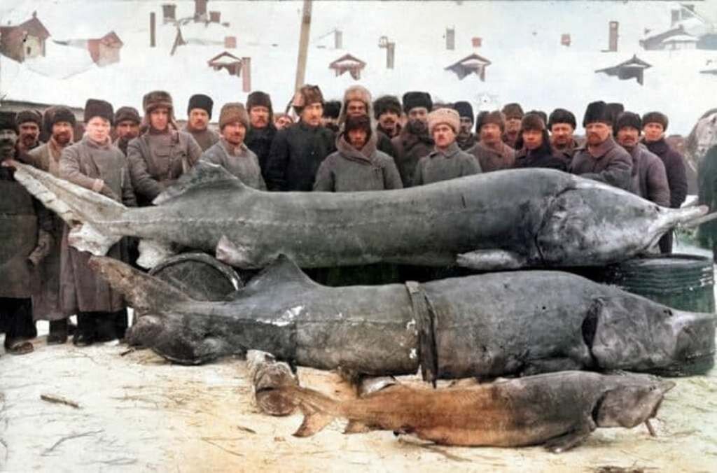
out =
[[(106, 223), (123, 218), (127, 207), (108, 197), (52, 176), (27, 164), (16, 163), (14, 177), (37, 200), (73, 227), (69, 242), (92, 254), (105, 254), (122, 235), (107, 231)], [(77, 224), (81, 223), (81, 228)]]

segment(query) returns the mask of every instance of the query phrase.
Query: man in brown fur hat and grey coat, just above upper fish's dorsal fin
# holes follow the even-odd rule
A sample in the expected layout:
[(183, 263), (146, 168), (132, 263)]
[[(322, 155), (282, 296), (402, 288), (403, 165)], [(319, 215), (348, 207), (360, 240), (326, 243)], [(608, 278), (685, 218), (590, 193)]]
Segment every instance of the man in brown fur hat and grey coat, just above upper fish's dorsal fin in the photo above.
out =
[(219, 142), (204, 151), (201, 160), (217, 164), (237, 176), (247, 186), (265, 191), (259, 160), (247, 145), (244, 136), (249, 128), (249, 116), (241, 103), (227, 103), (219, 114)]

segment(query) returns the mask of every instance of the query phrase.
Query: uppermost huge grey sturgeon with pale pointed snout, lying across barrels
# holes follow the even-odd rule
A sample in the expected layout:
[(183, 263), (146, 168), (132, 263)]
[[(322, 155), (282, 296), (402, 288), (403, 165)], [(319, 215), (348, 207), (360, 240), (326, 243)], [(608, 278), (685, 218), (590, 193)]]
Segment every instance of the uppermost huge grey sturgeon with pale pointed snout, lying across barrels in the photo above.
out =
[(270, 193), (200, 161), (155, 199), (156, 206), (141, 209), (22, 164), (15, 178), (75, 227), (70, 244), (78, 249), (105, 254), (123, 235), (155, 242), (141, 244), (145, 267), (168, 256), (172, 244), (214, 252), (242, 269), (266, 267), (279, 254), (305, 268), (602, 266), (645, 252), (665, 231), (707, 211), (660, 207), (597, 181), (537, 168), (398, 191)]

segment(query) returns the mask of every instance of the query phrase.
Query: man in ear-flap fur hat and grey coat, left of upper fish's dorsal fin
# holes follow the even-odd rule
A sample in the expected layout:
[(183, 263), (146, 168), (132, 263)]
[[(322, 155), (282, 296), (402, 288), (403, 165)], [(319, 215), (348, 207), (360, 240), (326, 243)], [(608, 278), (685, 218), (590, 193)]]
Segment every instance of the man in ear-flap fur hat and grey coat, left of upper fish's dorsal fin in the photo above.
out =
[(147, 206), (199, 161), (201, 148), (192, 135), (178, 130), (168, 92), (149, 92), (142, 102), (144, 133), (130, 141), (127, 158), (138, 204)]

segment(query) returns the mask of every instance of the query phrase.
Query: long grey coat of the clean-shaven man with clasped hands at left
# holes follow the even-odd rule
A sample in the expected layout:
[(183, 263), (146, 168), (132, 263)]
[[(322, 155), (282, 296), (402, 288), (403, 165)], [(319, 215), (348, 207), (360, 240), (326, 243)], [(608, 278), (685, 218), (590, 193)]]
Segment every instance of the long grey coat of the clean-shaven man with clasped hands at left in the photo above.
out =
[[(60, 158), (60, 177), (91, 189), (97, 179), (104, 181), (118, 201), (136, 206), (127, 158), (111, 143), (98, 144), (85, 136), (79, 143), (65, 148)], [(62, 310), (77, 312), (117, 312), (125, 307), (123, 297), (95, 271), (88, 261), (92, 256), (80, 252), (67, 243), (68, 229), (62, 239), (61, 292)], [(107, 256), (128, 262), (127, 245), (120, 240), (110, 248)]]

